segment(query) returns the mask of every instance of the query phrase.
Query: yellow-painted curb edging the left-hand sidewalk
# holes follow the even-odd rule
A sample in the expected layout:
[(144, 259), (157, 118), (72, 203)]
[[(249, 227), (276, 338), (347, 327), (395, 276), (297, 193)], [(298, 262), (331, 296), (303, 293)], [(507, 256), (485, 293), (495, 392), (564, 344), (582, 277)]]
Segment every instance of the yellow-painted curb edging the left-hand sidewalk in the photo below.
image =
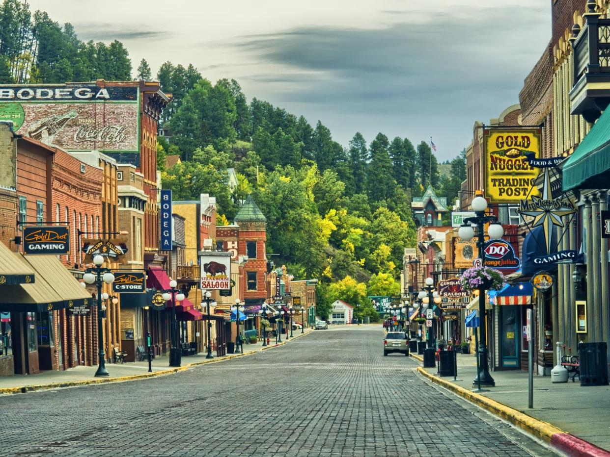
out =
[[(300, 336), (304, 336), (304, 335), (309, 335), (309, 333), (311, 333), (311, 332), (309, 331), (307, 333), (302, 333), (297, 336), (293, 336), (291, 339), (299, 338)], [(273, 347), (278, 347), (278, 346), (284, 345), (286, 343), (287, 343), (287, 341), (282, 341), (281, 343), (278, 343), (278, 344), (269, 345), (267, 347), (262, 347), (260, 350), (252, 350), (252, 351), (244, 352), (241, 354), (232, 354), (232, 355), (225, 356), (223, 358), (213, 358), (213, 359), (209, 359), (209, 360), (202, 360), (200, 362), (189, 363), (189, 364), (187, 364), (185, 366), (181, 366), (181, 367), (170, 368), (167, 370), (159, 370), (159, 371), (155, 371), (155, 372), (151, 372), (151, 373), (146, 372), (146, 373), (139, 374), (139, 375), (121, 376), (118, 378), (97, 378), (97, 379), (86, 379), (86, 380), (80, 380), (80, 381), (65, 381), (62, 383), (32, 384), (30, 386), (0, 388), (0, 395), (22, 394), (25, 392), (46, 391), (49, 389), (58, 389), (58, 388), (66, 388), (66, 387), (88, 386), (91, 384), (107, 384), (107, 383), (120, 383), (120, 382), (124, 382), (124, 381), (137, 381), (137, 380), (142, 380), (142, 379), (146, 379), (146, 378), (152, 378), (152, 377), (157, 377), (157, 376), (178, 373), (178, 372), (188, 370), (189, 368), (196, 367), (196, 366), (206, 365), (206, 364), (210, 364), (210, 363), (219, 363), (219, 362), (223, 362), (226, 360), (231, 360), (231, 359), (235, 359), (235, 358), (245, 357), (248, 355), (253, 355), (253, 354), (261, 352), (265, 349), (271, 349)]]

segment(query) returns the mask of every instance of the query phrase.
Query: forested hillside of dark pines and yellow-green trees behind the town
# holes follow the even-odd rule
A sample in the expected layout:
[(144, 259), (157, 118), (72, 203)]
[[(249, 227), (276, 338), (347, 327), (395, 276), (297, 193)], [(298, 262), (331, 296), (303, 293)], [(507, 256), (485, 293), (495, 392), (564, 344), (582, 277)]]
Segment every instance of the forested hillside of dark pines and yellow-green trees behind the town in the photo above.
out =
[[(231, 222), (252, 194), (267, 217), (274, 262), (297, 278), (319, 278), (318, 306), (340, 298), (356, 305), (357, 315), (374, 316), (367, 294), (400, 292), (403, 249), (415, 245), (411, 197), (432, 185), (453, 202), (465, 179), (463, 153), (441, 176), (427, 141), (356, 132), (344, 147), (320, 121), (314, 127), (255, 97), (248, 103), (237, 81), (204, 76), (171, 62), (156, 74), (173, 94), (162, 119), (170, 141), (159, 139), (163, 187), (174, 199), (216, 196), (218, 224)], [(151, 69), (142, 60), (132, 74), (120, 41), (85, 43), (70, 24), (32, 13), (26, 2), (2, 2), (0, 83), (134, 77), (152, 79)], [(180, 155), (182, 163), (165, 169), (166, 155)], [(234, 191), (228, 168), (237, 171)]]

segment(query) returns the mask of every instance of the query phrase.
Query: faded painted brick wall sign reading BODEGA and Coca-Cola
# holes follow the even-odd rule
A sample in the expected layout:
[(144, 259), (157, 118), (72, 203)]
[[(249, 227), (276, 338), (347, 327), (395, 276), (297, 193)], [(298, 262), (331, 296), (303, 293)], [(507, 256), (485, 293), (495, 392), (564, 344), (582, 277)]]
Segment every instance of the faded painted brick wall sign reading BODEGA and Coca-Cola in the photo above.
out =
[(138, 87), (0, 85), (0, 120), (67, 151), (138, 152)]

